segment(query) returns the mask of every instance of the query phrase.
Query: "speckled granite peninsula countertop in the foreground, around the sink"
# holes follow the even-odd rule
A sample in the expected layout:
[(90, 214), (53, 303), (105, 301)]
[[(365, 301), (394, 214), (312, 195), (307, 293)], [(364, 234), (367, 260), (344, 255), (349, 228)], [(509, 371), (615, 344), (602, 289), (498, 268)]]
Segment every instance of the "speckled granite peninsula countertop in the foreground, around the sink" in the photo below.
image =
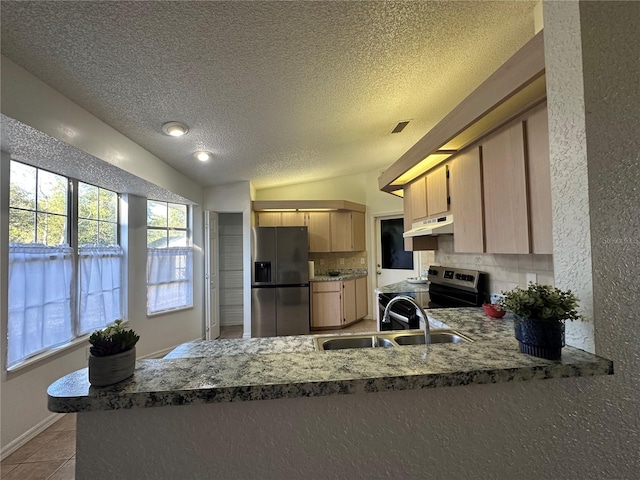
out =
[(562, 360), (519, 352), (508, 316), (480, 308), (439, 309), (436, 321), (474, 340), (317, 352), (315, 335), (197, 341), (164, 359), (138, 360), (133, 377), (91, 387), (83, 368), (47, 390), (53, 412), (267, 400), (535, 379), (607, 375), (610, 360), (565, 347)]

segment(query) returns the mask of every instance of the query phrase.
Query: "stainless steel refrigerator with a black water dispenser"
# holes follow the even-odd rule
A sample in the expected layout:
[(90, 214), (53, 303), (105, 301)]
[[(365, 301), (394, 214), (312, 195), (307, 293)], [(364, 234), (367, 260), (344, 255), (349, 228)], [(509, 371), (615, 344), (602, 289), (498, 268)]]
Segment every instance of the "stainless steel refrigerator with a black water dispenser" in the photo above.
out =
[(251, 336), (309, 333), (307, 227), (251, 228)]

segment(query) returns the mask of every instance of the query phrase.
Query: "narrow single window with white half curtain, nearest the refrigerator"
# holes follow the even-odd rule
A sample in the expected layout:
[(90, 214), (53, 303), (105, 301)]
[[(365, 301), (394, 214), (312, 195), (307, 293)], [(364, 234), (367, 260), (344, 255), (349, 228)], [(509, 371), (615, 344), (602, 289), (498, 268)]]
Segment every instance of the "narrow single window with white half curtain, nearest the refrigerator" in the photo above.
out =
[(193, 248), (186, 205), (147, 201), (147, 313), (193, 306)]

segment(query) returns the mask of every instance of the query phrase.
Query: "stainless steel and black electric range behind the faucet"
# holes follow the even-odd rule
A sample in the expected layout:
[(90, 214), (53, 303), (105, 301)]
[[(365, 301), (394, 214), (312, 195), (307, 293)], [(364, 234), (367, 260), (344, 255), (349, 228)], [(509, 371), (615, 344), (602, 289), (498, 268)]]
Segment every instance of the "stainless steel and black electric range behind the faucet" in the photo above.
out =
[(428, 283), (412, 285), (400, 282), (382, 287), (378, 293), (378, 328), (406, 330), (420, 328), (419, 317), (409, 302), (398, 301), (391, 306), (391, 323), (381, 323), (387, 303), (398, 295), (407, 295), (425, 309), (480, 307), (487, 297), (487, 274), (478, 270), (456, 267), (429, 267)]

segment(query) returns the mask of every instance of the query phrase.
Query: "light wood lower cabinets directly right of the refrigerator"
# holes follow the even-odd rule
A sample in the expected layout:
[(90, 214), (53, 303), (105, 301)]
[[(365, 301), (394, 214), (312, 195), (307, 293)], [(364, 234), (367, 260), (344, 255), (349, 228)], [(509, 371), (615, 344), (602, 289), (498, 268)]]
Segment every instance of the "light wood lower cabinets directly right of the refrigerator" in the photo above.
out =
[(366, 315), (366, 277), (311, 282), (311, 328), (341, 328)]

